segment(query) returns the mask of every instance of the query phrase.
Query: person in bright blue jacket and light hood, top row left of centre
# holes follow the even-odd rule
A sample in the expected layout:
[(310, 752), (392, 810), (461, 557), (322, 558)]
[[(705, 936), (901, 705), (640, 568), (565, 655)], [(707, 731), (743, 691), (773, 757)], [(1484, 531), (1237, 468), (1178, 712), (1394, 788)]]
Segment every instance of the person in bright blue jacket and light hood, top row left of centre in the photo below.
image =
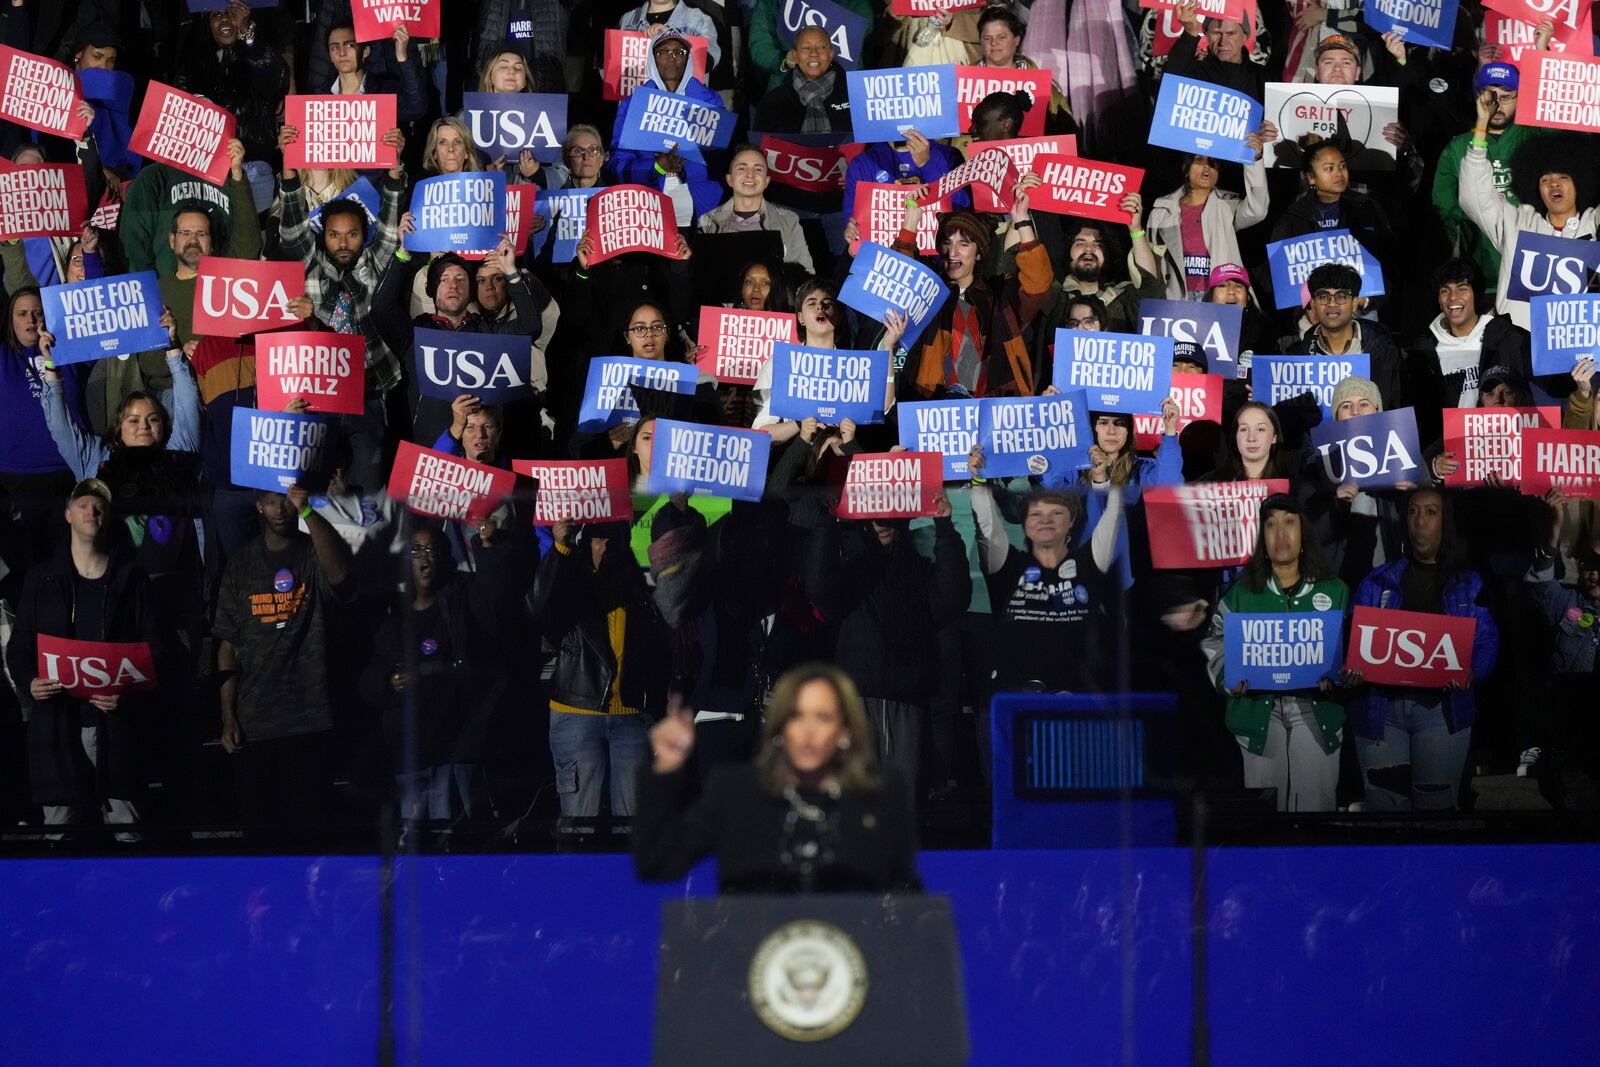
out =
[[(651, 0), (654, 3), (654, 0)], [(643, 19), (645, 8), (650, 3), (642, 5), (632, 16)], [(707, 16), (686, 3), (677, 3), (667, 8), (674, 14), (678, 11), (690, 11), (701, 19)], [(622, 16), (626, 24), (630, 16)], [(624, 26), (624, 29), (627, 29)], [(643, 26), (640, 26), (643, 29)], [(696, 30), (699, 34), (699, 30)], [(717, 61), (717, 42), (715, 34), (710, 40), (710, 62)], [(645, 66), (646, 82), (645, 85), (653, 85), (662, 93), (677, 93), (678, 96), (688, 96), (691, 101), (704, 104), (706, 107), (715, 107), (722, 110), (722, 98), (706, 88), (699, 78), (688, 72), (690, 66), (690, 42), (683, 37), (683, 32), (674, 27), (659, 30), (654, 34), (654, 40), (650, 42), (650, 62)], [(627, 114), (634, 106), (637, 98), (629, 96), (616, 109), (616, 123), (611, 126), (611, 144), (618, 142), (622, 136), (622, 130), (627, 126)], [(611, 154), (611, 170), (616, 173), (618, 179), (634, 186), (648, 186), (651, 189), (659, 189), (667, 194), (672, 200), (672, 206), (677, 213), (678, 226), (688, 227), (690, 222), (706, 214), (717, 206), (722, 200), (722, 192), (717, 189), (717, 182), (710, 179), (706, 171), (706, 160), (701, 157), (694, 146), (690, 146), (690, 154), (682, 155), (677, 150), (672, 152), (640, 152), (635, 149), (618, 149)]]

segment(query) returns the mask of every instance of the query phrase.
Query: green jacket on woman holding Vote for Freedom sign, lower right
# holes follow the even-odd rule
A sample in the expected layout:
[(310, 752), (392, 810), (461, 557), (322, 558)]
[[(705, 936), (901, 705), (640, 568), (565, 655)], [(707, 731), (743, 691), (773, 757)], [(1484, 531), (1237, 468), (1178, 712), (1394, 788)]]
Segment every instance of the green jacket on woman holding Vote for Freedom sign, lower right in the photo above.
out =
[[(1320, 600), (1318, 600), (1320, 597)], [(1254, 592), (1240, 579), (1234, 582), (1216, 614), (1211, 616), (1211, 629), (1200, 643), (1206, 654), (1206, 669), (1211, 672), (1211, 683), (1218, 691), (1227, 694), (1227, 683), (1222, 678), (1226, 653), (1222, 649), (1222, 619), (1232, 611), (1246, 614), (1293, 613), (1293, 611), (1349, 611), (1350, 587), (1338, 577), (1325, 577), (1318, 582), (1301, 582), (1299, 589), (1285, 595), (1275, 581), (1267, 579), (1266, 589)], [(1342, 637), (1341, 637), (1342, 640)], [(1322, 736), (1317, 739), (1323, 752), (1339, 749), (1339, 729), (1344, 726), (1344, 702), (1338, 691), (1322, 693), (1318, 689), (1299, 689), (1286, 693), (1246, 693), (1245, 696), (1227, 697), (1227, 715), (1224, 721), (1237, 737), (1248, 741), (1254, 755), (1261, 755), (1267, 745), (1267, 723), (1272, 720), (1274, 701), (1304, 701), (1312, 705)]]

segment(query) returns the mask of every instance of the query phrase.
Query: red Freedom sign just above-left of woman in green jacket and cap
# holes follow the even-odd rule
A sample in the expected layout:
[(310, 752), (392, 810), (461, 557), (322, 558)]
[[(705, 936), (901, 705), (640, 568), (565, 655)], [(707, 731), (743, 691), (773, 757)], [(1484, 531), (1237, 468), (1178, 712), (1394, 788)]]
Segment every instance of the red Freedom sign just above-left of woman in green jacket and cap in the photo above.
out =
[(1256, 547), (1261, 501), (1288, 491), (1283, 478), (1146, 490), (1150, 563), (1158, 569), (1238, 566)]

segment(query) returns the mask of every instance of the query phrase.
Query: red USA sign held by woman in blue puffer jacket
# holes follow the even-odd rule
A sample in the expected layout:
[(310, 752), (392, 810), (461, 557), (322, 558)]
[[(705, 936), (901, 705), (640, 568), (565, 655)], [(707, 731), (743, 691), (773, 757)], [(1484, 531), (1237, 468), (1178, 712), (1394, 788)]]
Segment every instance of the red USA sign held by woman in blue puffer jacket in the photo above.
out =
[(1344, 665), (1374, 685), (1443, 688), (1472, 680), (1477, 619), (1422, 611), (1357, 608)]

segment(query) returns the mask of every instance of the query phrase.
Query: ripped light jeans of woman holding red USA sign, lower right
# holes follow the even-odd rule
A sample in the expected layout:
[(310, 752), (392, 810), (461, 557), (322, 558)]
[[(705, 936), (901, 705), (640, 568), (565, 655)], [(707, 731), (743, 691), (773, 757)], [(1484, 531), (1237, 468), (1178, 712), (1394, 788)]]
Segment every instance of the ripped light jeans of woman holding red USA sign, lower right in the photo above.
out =
[(1450, 811), (1456, 808), (1472, 728), (1450, 733), (1437, 696), (1389, 701), (1384, 736), (1357, 737), (1368, 811)]

